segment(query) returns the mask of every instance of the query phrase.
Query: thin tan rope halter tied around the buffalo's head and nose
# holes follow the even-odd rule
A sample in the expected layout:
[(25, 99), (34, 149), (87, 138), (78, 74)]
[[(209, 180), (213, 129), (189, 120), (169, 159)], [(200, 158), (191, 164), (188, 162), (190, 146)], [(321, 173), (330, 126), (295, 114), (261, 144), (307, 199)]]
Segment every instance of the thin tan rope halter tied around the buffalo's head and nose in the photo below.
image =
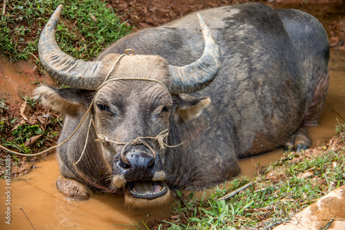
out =
[[(114, 81), (119, 81), (119, 80), (141, 80), (141, 81), (148, 81), (148, 82), (156, 82), (158, 84), (161, 84), (162, 86), (164, 86), (166, 88), (166, 90), (168, 90), (168, 88), (166, 87), (166, 85), (163, 83), (163, 82), (160, 82), (159, 80), (157, 79), (145, 79), (145, 78), (137, 78), (137, 77), (132, 77), (132, 78), (115, 78), (115, 79), (109, 79), (109, 76), (110, 74), (112, 73), (112, 71), (114, 70), (115, 66), (119, 63), (120, 59), (126, 55), (135, 55), (135, 52), (134, 50), (132, 49), (126, 49), (125, 50), (126, 54), (122, 54), (122, 55), (119, 55), (119, 57), (117, 57), (117, 60), (114, 62), (114, 64), (112, 64), (112, 68), (110, 68), (109, 70), (109, 73), (108, 75), (106, 75), (106, 78), (103, 80), (103, 83), (97, 88), (97, 91), (103, 87), (106, 83), (108, 82), (114, 82)], [(169, 91), (169, 90), (168, 90)], [(67, 137), (66, 140), (63, 140), (63, 142), (61, 142), (60, 144), (57, 144), (56, 146), (52, 146), (50, 148), (47, 148), (46, 150), (44, 151), (41, 151), (39, 153), (34, 153), (34, 154), (26, 154), (26, 153), (18, 153), (16, 151), (12, 151), (4, 146), (2, 146), (0, 144), (0, 148), (2, 148), (4, 151), (8, 151), (9, 153), (13, 153), (13, 154), (16, 154), (16, 155), (21, 155), (21, 156), (24, 156), (24, 157), (34, 157), (36, 155), (41, 155), (43, 153), (47, 153), (55, 148), (59, 148), (60, 146), (62, 146), (63, 144), (65, 144), (66, 142), (68, 142), (68, 140), (70, 140), (70, 138), (72, 138), (73, 135), (75, 135), (75, 133), (77, 132), (77, 130), (80, 128), (81, 124), (83, 124), (84, 120), (86, 119), (88, 113), (90, 113), (91, 111), (91, 108), (92, 108), (92, 105), (93, 105), (93, 102), (95, 102), (95, 97), (92, 99), (92, 102), (90, 103), (90, 106), (88, 107), (88, 111), (86, 111), (85, 115), (83, 116), (83, 118), (81, 119), (81, 121), (79, 122), (77, 128), (75, 128), (75, 130), (70, 134), (69, 137)], [(92, 115), (90, 117), (90, 124), (88, 125), (88, 133), (90, 131), (90, 126), (91, 126), (91, 123), (93, 124), (93, 126), (95, 127), (95, 132), (97, 133), (97, 130), (96, 130), (96, 126), (95, 126), (95, 122), (93, 121), (92, 119)], [(81, 160), (81, 157), (83, 157), (83, 154), (86, 150), (86, 146), (87, 146), (87, 142), (88, 142), (88, 133), (86, 135), (86, 141), (85, 141), (85, 144), (84, 144), (84, 147), (83, 147), (83, 151), (79, 157), (79, 160), (77, 160), (77, 162), (75, 162), (75, 164), (78, 164), (79, 161)], [(140, 142), (140, 144), (144, 144), (145, 146), (147, 146), (150, 151), (152, 152), (152, 154), (154, 155), (154, 159), (155, 159), (155, 156), (157, 155), (157, 153), (155, 153), (155, 151), (151, 148), (151, 146), (149, 144), (147, 144), (146, 142), (143, 141), (143, 139), (152, 139), (152, 140), (157, 140), (157, 142), (159, 143), (159, 146), (160, 148), (164, 148), (165, 146), (169, 147), (169, 148), (172, 148), (172, 147), (177, 147), (177, 146), (180, 146), (181, 144), (183, 144), (183, 142), (181, 144), (178, 144), (176, 146), (169, 146), (168, 144), (165, 144), (164, 143), (164, 138), (168, 136), (168, 129), (166, 129), (165, 131), (162, 131), (161, 133), (159, 133), (159, 135), (157, 135), (156, 137), (137, 137), (135, 140), (132, 140), (130, 142), (127, 142), (127, 143), (123, 143), (123, 142), (115, 142), (115, 141), (112, 141), (112, 140), (108, 140), (108, 138), (104, 135), (99, 135), (99, 133), (97, 133), (97, 137), (99, 137), (97, 140), (95, 141), (99, 141), (101, 140), (102, 142), (112, 142), (112, 143), (115, 143), (115, 144), (118, 144), (118, 145), (125, 145), (124, 148), (122, 149), (121, 151), (121, 159), (124, 160), (124, 162), (127, 162), (126, 160), (126, 157), (124, 157), (124, 151), (125, 149), (130, 146), (130, 145), (135, 145), (137, 143)], [(153, 161), (152, 161), (153, 162)], [(152, 163), (151, 163), (152, 164)]]

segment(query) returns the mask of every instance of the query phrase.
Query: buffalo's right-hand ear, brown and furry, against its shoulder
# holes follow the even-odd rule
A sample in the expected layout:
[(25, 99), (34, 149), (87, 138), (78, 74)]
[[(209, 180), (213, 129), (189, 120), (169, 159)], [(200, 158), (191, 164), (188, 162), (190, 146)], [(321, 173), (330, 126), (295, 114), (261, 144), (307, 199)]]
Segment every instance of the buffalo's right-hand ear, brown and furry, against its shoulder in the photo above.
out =
[(210, 97), (192, 97), (190, 95), (180, 94), (179, 104), (174, 113), (175, 121), (188, 122), (190, 119), (199, 117), (210, 102)]

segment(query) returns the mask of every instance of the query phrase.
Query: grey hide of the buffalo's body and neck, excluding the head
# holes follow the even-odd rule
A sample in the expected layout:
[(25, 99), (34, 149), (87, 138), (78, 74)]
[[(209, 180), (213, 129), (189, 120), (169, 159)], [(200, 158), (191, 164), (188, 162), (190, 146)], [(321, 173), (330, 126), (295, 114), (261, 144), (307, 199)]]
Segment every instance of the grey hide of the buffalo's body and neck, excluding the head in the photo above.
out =
[[(161, 156), (164, 159), (159, 170), (166, 173), (170, 189), (211, 186), (237, 175), (238, 159), (272, 151), (303, 124), (317, 124), (328, 90), (328, 38), (311, 15), (299, 10), (273, 10), (259, 3), (200, 13), (219, 45), (221, 68), (212, 84), (190, 94), (212, 101), (199, 117), (183, 122), (170, 116), (168, 144), (183, 142), (165, 148)], [(192, 14), (124, 37), (97, 60), (110, 53), (124, 53), (127, 48), (136, 55), (158, 55), (168, 64), (184, 66), (202, 55), (204, 40)], [(57, 92), (86, 105), (95, 95), (90, 90)], [(171, 97), (176, 104), (184, 96)], [(60, 142), (72, 133), (81, 117), (79, 113), (66, 117)], [(131, 119), (138, 126), (148, 125), (138, 117)], [(83, 148), (87, 126), (84, 122), (81, 131), (59, 148), (61, 173), (106, 190), (109, 171), (114, 169), (108, 169), (98, 154), (101, 148), (93, 128), (86, 156), (73, 166)]]

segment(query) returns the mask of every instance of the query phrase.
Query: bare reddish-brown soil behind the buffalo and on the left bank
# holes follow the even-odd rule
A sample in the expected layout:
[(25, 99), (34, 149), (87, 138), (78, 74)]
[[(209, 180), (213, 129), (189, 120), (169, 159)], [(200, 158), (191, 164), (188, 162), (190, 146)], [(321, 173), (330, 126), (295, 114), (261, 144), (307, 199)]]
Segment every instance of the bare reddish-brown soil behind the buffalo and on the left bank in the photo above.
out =
[[(206, 8), (215, 8), (218, 6), (228, 6), (237, 3), (253, 2), (250, 0), (109, 0), (109, 6), (117, 9), (117, 15), (123, 15), (121, 20), (134, 26), (133, 31), (160, 26), (174, 19), (188, 15), (197, 10)], [(273, 8), (297, 8), (304, 10), (317, 17), (328, 32), (331, 48), (345, 50), (345, 1), (344, 0), (267, 0), (261, 2)], [(0, 8), (1, 1), (0, 1)], [(10, 10), (7, 8), (6, 10)], [(1, 120), (7, 125), (0, 135), (11, 140), (13, 128), (18, 124), (40, 124), (39, 120), (43, 117), (50, 119), (59, 119), (60, 115), (41, 108), (23, 107), (23, 97), (30, 95), (37, 84), (46, 82), (54, 85), (55, 82), (48, 75), (42, 74), (41, 66), (37, 66), (37, 54), (32, 55), (28, 61), (10, 63), (8, 59), (0, 57), (0, 99), (5, 99), (6, 110), (1, 110)], [(25, 119), (30, 118), (30, 119)], [(1, 128), (1, 126), (0, 126)], [(61, 126), (55, 125), (52, 131), (59, 131)], [(1, 130), (1, 129), (0, 129)], [(43, 146), (54, 145), (57, 140), (45, 140)], [(40, 147), (32, 146), (34, 151), (39, 151)], [(3, 152), (0, 150), (0, 158), (3, 158)], [(12, 172), (14, 175), (21, 175), (30, 171), (32, 164), (40, 157), (19, 157), (19, 160), (13, 161)], [(29, 162), (29, 163), (28, 163)], [(1, 166), (1, 164), (0, 164)], [(2, 166), (1, 166), (2, 167)], [(0, 176), (3, 169), (0, 168)]]

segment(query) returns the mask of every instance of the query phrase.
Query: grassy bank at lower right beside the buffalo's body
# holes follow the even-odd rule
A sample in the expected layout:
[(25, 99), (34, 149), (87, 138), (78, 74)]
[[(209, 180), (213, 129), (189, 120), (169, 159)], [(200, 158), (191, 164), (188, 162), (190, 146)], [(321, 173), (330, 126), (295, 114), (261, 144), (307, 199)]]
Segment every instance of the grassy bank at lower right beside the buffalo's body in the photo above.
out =
[(273, 229), (288, 222), (295, 213), (345, 184), (342, 132), (331, 146), (285, 153), (257, 175), (251, 186), (228, 200), (219, 198), (250, 180), (237, 178), (226, 189), (214, 189), (208, 198), (194, 193), (184, 198), (177, 192), (174, 214), (153, 229)]

